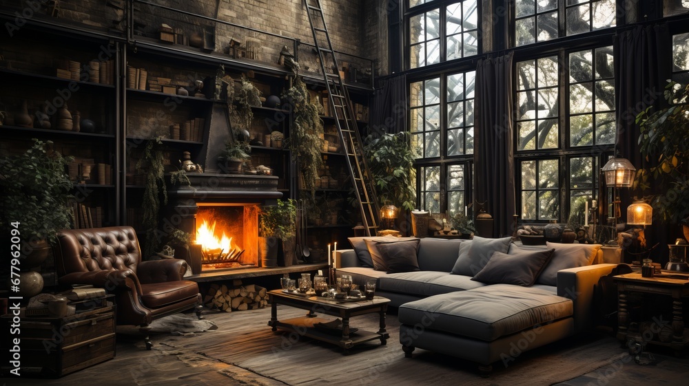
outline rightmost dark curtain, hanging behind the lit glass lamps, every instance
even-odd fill
[[[667,79],[672,76],[672,36],[668,25],[637,26],[621,32],[613,41],[615,50],[615,92],[617,102],[617,137],[615,150],[638,169],[654,166],[654,160],[645,160],[639,151],[639,126],[635,119],[639,112],[652,106],[652,111],[666,106],[663,92]],[[658,187],[663,189],[662,186]],[[644,197],[658,192],[639,189],[620,189],[621,215],[633,197]],[[629,227],[628,227],[629,228]],[[656,224],[646,227],[648,246],[659,244],[651,257],[664,263],[667,259],[666,244],[674,240],[674,227]],[[629,260],[625,258],[625,260]]]

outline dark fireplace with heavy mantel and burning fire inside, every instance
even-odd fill
[[[189,173],[192,186],[168,191],[170,218],[192,234],[194,275],[258,267],[258,212],[282,193],[273,175]]]

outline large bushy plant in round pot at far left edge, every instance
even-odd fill
[[[65,173],[72,157],[50,150],[51,144],[34,138],[19,156],[0,158],[0,229],[21,247],[12,256],[20,258],[21,294],[27,297],[43,290],[43,278],[30,268],[50,255],[57,231],[72,224],[73,185]]]

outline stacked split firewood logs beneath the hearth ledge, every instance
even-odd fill
[[[239,310],[256,310],[265,308],[268,304],[267,290],[255,284],[243,285],[239,279],[232,284],[212,284],[203,299],[208,308],[216,308],[225,312]]]

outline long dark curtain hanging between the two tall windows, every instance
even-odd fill
[[[476,67],[474,202],[485,202],[493,235],[511,236],[515,208],[512,53]]]

